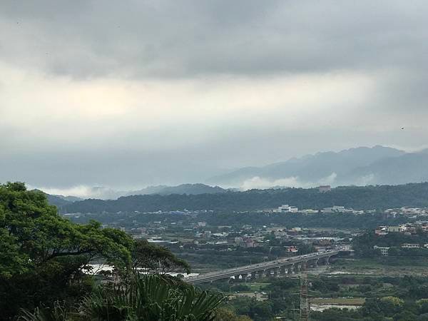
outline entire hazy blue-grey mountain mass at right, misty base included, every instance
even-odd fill
[[[273,163],[263,167],[248,167],[218,175],[208,183],[223,186],[261,188],[265,184],[287,187],[338,185],[382,185],[419,183],[428,180],[428,150],[406,153],[384,146],[350,148],[340,152],[323,152],[302,158]]]

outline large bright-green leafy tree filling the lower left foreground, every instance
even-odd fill
[[[44,193],[24,183],[0,185],[0,310],[68,300],[91,290],[91,261],[131,264],[133,240],[96,222],[77,225],[58,215]],[[1,319],[1,318],[0,318]]]

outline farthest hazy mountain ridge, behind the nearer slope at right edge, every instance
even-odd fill
[[[285,178],[295,178],[301,185],[330,183],[332,179],[337,183],[347,183],[348,173],[355,170],[355,168],[404,154],[404,151],[384,146],[351,148],[338,153],[331,151],[316,153],[315,155],[291,158],[288,161],[273,163],[264,167],[242,168],[210,178],[208,183],[240,186],[245,180],[255,177],[271,180],[272,182]]]

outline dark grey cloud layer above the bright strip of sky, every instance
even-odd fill
[[[426,1],[3,2],[1,56],[78,78],[420,68],[428,54]]]

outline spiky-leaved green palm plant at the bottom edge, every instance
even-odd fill
[[[194,287],[180,288],[161,275],[136,277],[124,289],[86,297],[81,315],[88,320],[210,321],[225,297]]]

